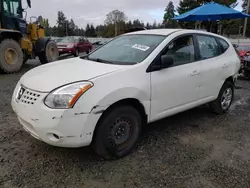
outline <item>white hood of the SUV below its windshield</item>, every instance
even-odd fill
[[[125,67],[127,66],[98,63],[78,57],[34,68],[22,76],[20,84],[32,90],[50,92],[65,84],[91,80]]]

